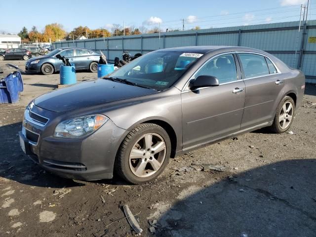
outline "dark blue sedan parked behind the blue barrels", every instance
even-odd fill
[[[76,69],[88,69],[93,73],[97,72],[98,61],[101,56],[101,54],[87,48],[58,48],[47,53],[45,56],[39,56],[30,59],[25,64],[25,70],[36,73],[41,72],[44,75],[51,75],[54,72],[59,72],[62,61],[56,58],[57,54],[60,54],[65,58],[69,58],[70,63],[74,63]]]

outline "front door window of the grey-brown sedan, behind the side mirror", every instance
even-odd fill
[[[194,76],[213,76],[220,84],[237,80],[237,70],[233,54],[225,54],[207,62]]]

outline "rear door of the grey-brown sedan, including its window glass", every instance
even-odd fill
[[[261,54],[238,53],[238,58],[246,85],[241,129],[272,121],[284,87],[283,81],[279,80],[279,71],[268,57]]]

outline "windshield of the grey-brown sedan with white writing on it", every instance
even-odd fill
[[[108,77],[163,90],[176,82],[202,54],[156,51],[145,54]]]

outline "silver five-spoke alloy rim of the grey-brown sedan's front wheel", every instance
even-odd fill
[[[129,154],[129,168],[140,178],[155,174],[166,157],[166,144],[157,133],[143,135]]]

